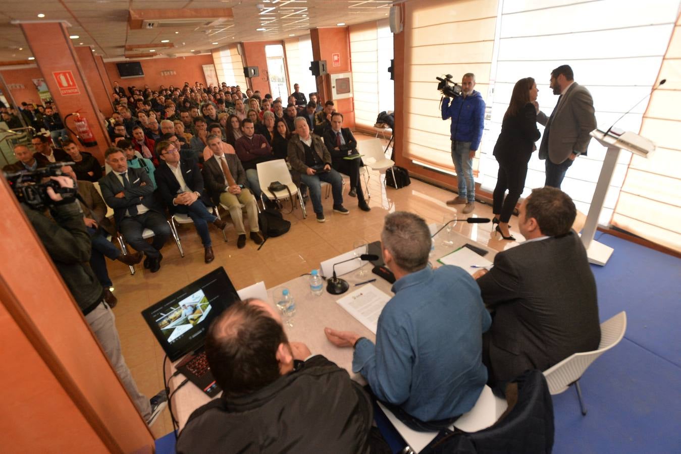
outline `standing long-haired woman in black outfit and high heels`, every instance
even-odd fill
[[[537,129],[537,84],[531,77],[518,80],[513,87],[509,108],[504,114],[494,146],[494,157],[499,163],[499,173],[494,188],[494,219],[496,231],[504,240],[516,240],[509,233],[509,219],[525,187],[527,163],[539,140]],[[509,193],[504,198],[506,190]]]

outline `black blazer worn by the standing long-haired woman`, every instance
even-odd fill
[[[539,137],[537,110],[532,103],[527,103],[516,115],[504,118],[493,154],[500,162],[527,163]]]

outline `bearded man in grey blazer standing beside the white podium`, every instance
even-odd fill
[[[572,68],[561,65],[551,72],[551,88],[558,97],[558,103],[551,116],[539,111],[537,122],[544,125],[539,159],[546,160],[545,186],[560,189],[565,172],[573,161],[586,156],[591,136],[596,129],[596,116],[591,94],[586,87],[574,80]],[[539,107],[535,101],[535,106]]]

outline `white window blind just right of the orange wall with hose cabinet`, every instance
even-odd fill
[[[387,20],[351,25],[349,30],[355,125],[373,128],[379,112],[395,108],[394,82],[387,71],[392,33]]]

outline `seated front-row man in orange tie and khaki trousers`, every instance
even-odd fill
[[[202,174],[206,184],[206,191],[210,194],[215,205],[222,204],[229,210],[234,229],[238,235],[236,246],[246,246],[246,228],[244,227],[241,205],[246,208],[251,228],[251,240],[255,244],[262,244],[264,239],[260,234],[257,222],[257,205],[251,190],[246,187],[246,172],[241,161],[236,155],[223,152],[218,135],[211,134],[206,138],[210,150],[213,152],[210,159],[204,162]]]

